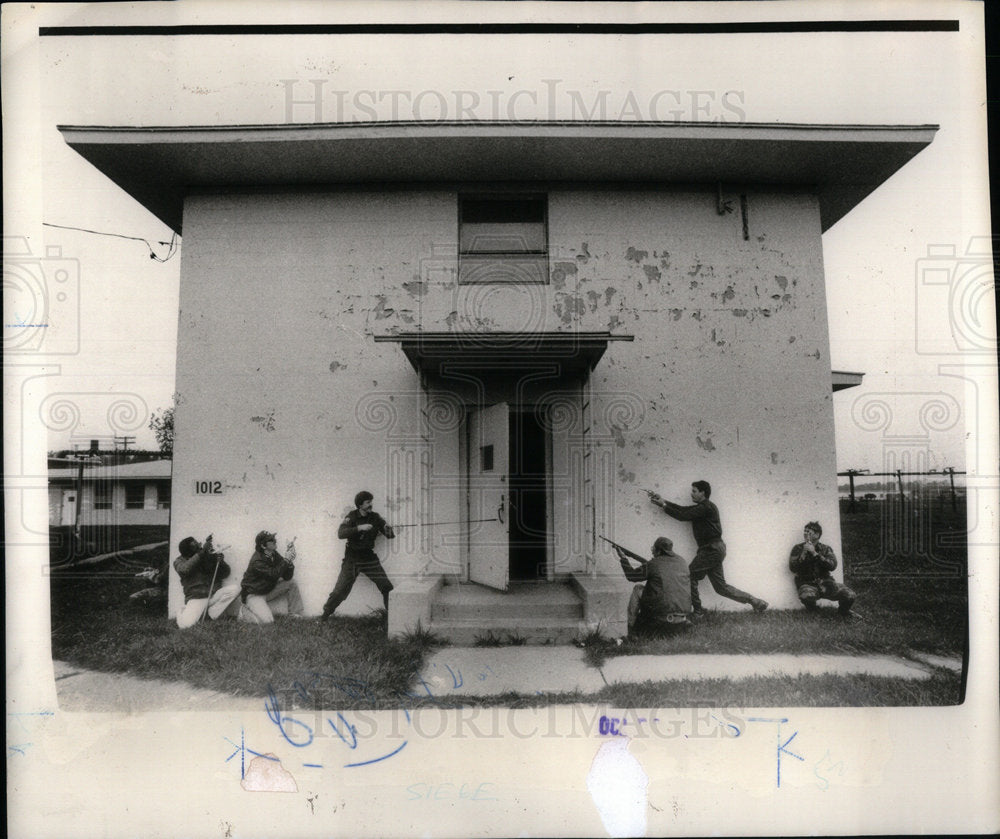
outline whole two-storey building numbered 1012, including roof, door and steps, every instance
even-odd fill
[[[772,606],[804,522],[839,554],[831,399],[860,376],[830,369],[821,234],[934,126],[61,130],[183,231],[172,546],[214,532],[239,573],[258,530],[296,536],[318,614],[368,489],[414,525],[377,546],[391,632],[621,632],[598,537],[690,558],[642,490],[699,479],[727,578]],[[362,578],[341,609],[380,602]]]

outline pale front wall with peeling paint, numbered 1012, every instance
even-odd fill
[[[597,532],[638,551],[670,535],[691,556],[690,527],[640,489],[686,502],[706,479],[728,578],[794,605],[786,558],[802,524],[819,519],[839,551],[818,207],[751,192],[744,239],[739,196],[724,198],[734,212],[717,213],[714,190],[553,191],[549,283],[458,286],[454,190],[189,197],[171,544],[214,533],[239,576],[258,530],[276,530],[279,549],[297,536],[297,577],[318,612],[359,489],[391,523],[426,519],[429,498],[435,520],[461,515],[440,475],[460,472],[449,402],[428,400],[398,346],[374,335],[610,330],[635,340],[609,344],[589,382]],[[565,420],[553,464],[577,486],[587,397],[570,390],[553,394]],[[580,517],[580,495],[555,504],[557,531]],[[377,550],[397,578],[428,557],[430,570],[455,568],[455,536],[413,528]],[[582,554],[557,546],[561,568],[620,573],[586,542]],[[378,605],[359,580],[342,608]]]

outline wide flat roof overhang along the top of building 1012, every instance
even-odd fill
[[[800,187],[819,196],[827,230],[937,129],[584,121],[59,126],[74,151],[178,233],[192,190],[504,181]]]

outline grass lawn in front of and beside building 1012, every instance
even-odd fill
[[[861,620],[843,620],[833,604],[819,613],[710,612],[696,628],[675,638],[630,639],[616,646],[608,639],[590,637],[584,654],[593,666],[616,655],[671,653],[961,656],[968,602],[964,534],[943,531],[949,538],[935,548],[936,554],[911,550],[907,556],[883,538],[883,525],[876,516],[844,517],[845,553],[863,560],[846,569],[847,582],[858,594]],[[148,612],[131,606],[128,595],[143,587],[134,579],[135,571],[156,564],[167,550],[164,546],[86,572],[55,571],[53,657],[93,670],[179,680],[237,696],[266,696],[273,690],[282,708],[395,708],[429,701],[408,691],[425,657],[440,643],[426,634],[387,639],[382,613],[337,617],[326,624],[279,619],[267,629],[221,621],[180,632],[165,610]],[[960,697],[961,677],[939,669],[923,681],[758,677],[612,685],[586,697],[456,696],[450,701],[522,707],[581,701],[617,707],[705,702],[731,707],[832,707],[946,705],[961,701]]]

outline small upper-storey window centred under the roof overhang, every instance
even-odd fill
[[[459,282],[546,282],[547,215],[544,197],[460,197]]]

